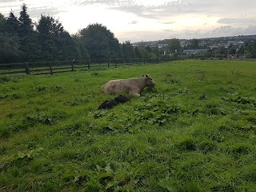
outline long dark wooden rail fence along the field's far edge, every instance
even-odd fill
[[[19,62],[0,64],[1,74],[55,74],[77,70],[93,70],[118,66],[145,65],[171,61],[171,59],[98,59],[91,62],[57,61],[57,62]]]

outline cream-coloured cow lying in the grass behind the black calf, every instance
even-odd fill
[[[110,80],[102,86],[104,94],[131,94],[140,97],[142,90],[146,86],[155,86],[156,83],[149,74],[142,75],[142,78],[128,78]]]

